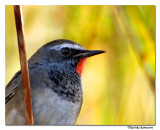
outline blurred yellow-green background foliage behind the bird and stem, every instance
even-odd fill
[[[87,60],[76,125],[155,125],[155,6],[23,6],[28,58],[70,39],[107,51]],[[20,69],[12,6],[5,8],[6,84]]]

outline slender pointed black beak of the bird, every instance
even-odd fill
[[[86,50],[86,51],[80,52],[79,54],[74,55],[73,57],[85,58],[85,57],[91,57],[94,55],[98,55],[104,52],[105,51],[102,51],[102,50]]]

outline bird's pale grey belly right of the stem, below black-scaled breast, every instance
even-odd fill
[[[36,90],[35,93],[37,93]],[[73,103],[64,100],[50,89],[38,91],[38,94],[33,98],[35,124],[73,125],[79,115],[80,108],[81,102]]]

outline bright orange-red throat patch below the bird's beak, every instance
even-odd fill
[[[82,72],[83,72],[83,69],[84,69],[84,65],[87,61],[87,58],[82,58],[78,61],[78,64],[77,64],[77,68],[76,68],[76,71],[77,73],[79,74],[79,76],[82,75]]]

